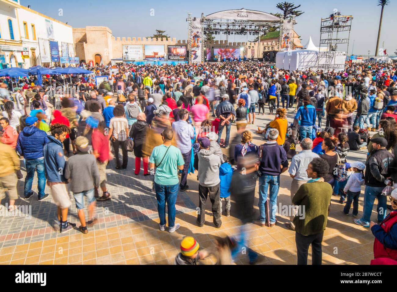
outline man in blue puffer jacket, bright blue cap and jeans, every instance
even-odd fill
[[[44,193],[46,177],[44,174],[43,147],[50,140],[47,137],[47,133],[38,128],[39,123],[36,117],[27,117],[25,123],[26,127],[19,133],[17,146],[15,147],[18,153],[26,160],[25,190],[23,195],[25,199],[30,199],[33,195],[33,177],[35,176],[35,170],[37,170],[38,195],[39,201],[42,201],[48,197],[48,194]]]

